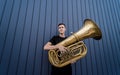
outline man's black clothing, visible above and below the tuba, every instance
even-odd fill
[[[65,40],[67,37],[63,38],[58,36],[53,36],[52,39],[49,40],[49,42],[52,43],[52,45],[56,45],[57,43]],[[52,66],[52,72],[51,75],[72,75],[72,67],[71,64],[66,65],[64,67],[58,68]]]

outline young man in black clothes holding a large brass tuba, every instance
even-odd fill
[[[58,25],[58,31],[59,31],[59,35],[53,36],[52,39],[50,39],[49,42],[44,46],[44,50],[59,49],[61,52],[66,51],[66,47],[61,45],[56,45],[57,43],[67,38],[65,36],[66,26],[64,23],[60,23]],[[72,75],[72,66],[71,64],[61,68],[52,66],[51,75]]]

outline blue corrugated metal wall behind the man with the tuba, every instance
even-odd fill
[[[120,0],[0,0],[0,75],[50,75],[44,44],[67,25],[76,32],[86,18],[102,40],[84,40],[88,53],[73,75],[120,75]]]

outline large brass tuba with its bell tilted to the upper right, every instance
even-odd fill
[[[57,44],[65,46],[67,51],[61,53],[58,49],[49,50],[49,61],[55,67],[63,67],[70,64],[71,61],[77,61],[87,53],[87,47],[82,40],[87,38],[100,40],[101,37],[102,33],[97,24],[91,19],[85,19],[83,27],[79,31]]]

